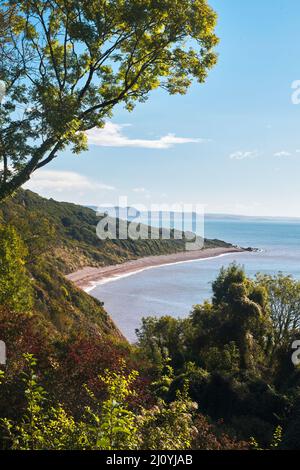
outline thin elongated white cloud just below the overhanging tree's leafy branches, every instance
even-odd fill
[[[206,139],[177,137],[175,134],[167,134],[159,139],[131,139],[124,135],[123,128],[126,125],[107,122],[103,129],[94,128],[87,132],[89,143],[99,147],[137,147],[148,149],[168,149],[174,145],[203,143]]]

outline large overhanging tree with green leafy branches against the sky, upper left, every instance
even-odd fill
[[[7,0],[0,48],[0,200],[113,108],[129,111],[162,87],[184,94],[216,63],[216,14],[206,0]],[[13,48],[12,48],[13,47]]]

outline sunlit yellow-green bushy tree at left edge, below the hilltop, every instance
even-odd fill
[[[0,305],[16,312],[26,311],[32,305],[26,247],[10,225],[0,226],[0,240]]]

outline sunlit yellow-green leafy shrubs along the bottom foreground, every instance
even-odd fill
[[[62,405],[52,405],[36,375],[36,360],[25,355],[27,371],[23,374],[26,406],[22,418],[14,422],[1,419],[7,447],[14,450],[122,450],[122,449],[190,449],[197,433],[193,414],[197,409],[185,390],[167,405],[133,412],[126,403],[134,394],[132,385],[137,377],[133,371],[125,374],[125,365],[118,373],[106,371],[99,377],[106,386],[107,397],[93,400],[84,415],[76,421]]]

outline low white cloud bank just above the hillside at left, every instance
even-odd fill
[[[86,190],[107,190],[115,188],[106,184],[94,181],[86,176],[72,171],[39,170],[33,173],[30,181],[24,185],[25,189],[32,191],[51,190],[62,191],[86,191]]]

